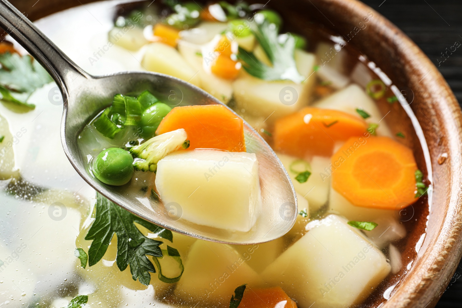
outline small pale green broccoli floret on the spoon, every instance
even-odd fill
[[[140,171],[156,171],[159,160],[171,152],[189,146],[189,140],[186,140],[187,137],[186,131],[180,128],[172,132],[152,137],[146,142],[132,147],[129,151],[135,158],[133,163],[134,169]]]

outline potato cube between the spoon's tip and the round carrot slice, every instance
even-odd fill
[[[321,174],[325,174],[325,168],[329,168],[330,158],[315,156],[311,159],[311,163],[308,163],[303,159],[282,153],[277,153],[277,155],[291,177],[295,191],[308,200],[310,211],[317,211],[322,205],[326,204],[330,179],[321,176]],[[308,181],[300,183],[295,178],[299,172],[304,171],[304,166],[310,166],[308,171],[311,172],[311,175]]]

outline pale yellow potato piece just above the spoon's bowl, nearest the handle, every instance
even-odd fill
[[[160,72],[188,81],[198,87],[201,80],[181,54],[173,47],[164,43],[151,43],[146,48],[142,65],[148,71]]]

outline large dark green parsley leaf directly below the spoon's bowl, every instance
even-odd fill
[[[103,258],[109,242],[114,234],[117,234],[117,267],[124,271],[129,264],[133,279],[148,285],[151,281],[149,272],[155,273],[156,269],[146,255],[162,257],[159,248],[162,242],[144,236],[134,223],[139,223],[169,241],[173,240],[171,231],[135,216],[99,193],[95,207],[95,221],[85,236],[85,240],[93,240],[88,249],[88,265],[93,266]]]

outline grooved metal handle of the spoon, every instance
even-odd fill
[[[0,26],[42,64],[62,91],[67,92],[67,85],[79,77],[90,78],[88,73],[69,59],[42,31],[6,0],[0,0]]]

